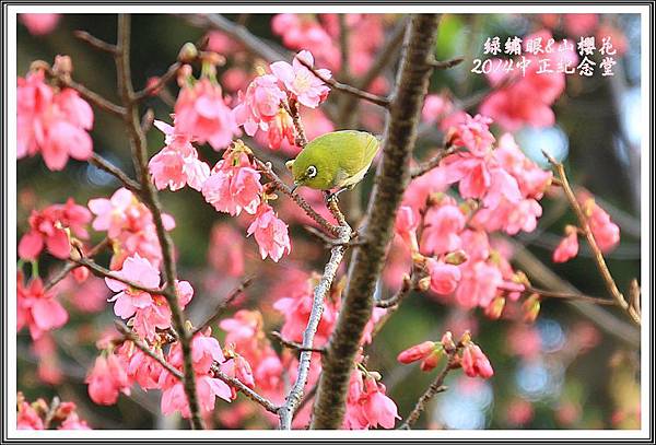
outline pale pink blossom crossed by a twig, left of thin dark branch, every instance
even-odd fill
[[[115,272],[115,276],[149,289],[160,285],[160,271],[148,259],[141,258],[139,254],[127,258],[122,268]],[[153,297],[148,292],[130,288],[112,278],[105,278],[105,283],[112,291],[118,292],[107,301],[116,302],[114,313],[124,319],[134,315],[137,309],[143,309],[153,304]]]

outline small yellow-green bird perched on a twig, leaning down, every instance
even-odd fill
[[[352,189],[364,178],[379,148],[378,138],[365,131],[341,130],[319,136],[285,164],[294,176],[292,192],[301,186],[337,189],[329,195],[333,197]]]

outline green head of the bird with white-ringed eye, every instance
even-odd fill
[[[286,163],[294,177],[294,189],[306,186],[327,190],[332,186],[337,164],[331,163],[329,153],[316,150],[303,150],[295,160]]]

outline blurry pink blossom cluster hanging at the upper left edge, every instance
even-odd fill
[[[60,171],[69,156],[91,157],[93,142],[87,131],[93,127],[93,112],[77,91],[55,89],[46,83],[43,70],[35,70],[19,78],[16,95],[19,159],[40,152],[49,169]]]

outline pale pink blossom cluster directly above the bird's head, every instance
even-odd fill
[[[250,82],[246,93],[239,91],[239,104],[234,109],[237,124],[244,127],[248,136],[256,136],[258,131],[266,134],[270,149],[279,149],[283,141],[295,143],[290,103],[316,108],[330,91],[301,60],[314,66],[313,55],[303,50],[294,57],[292,65],[273,62],[269,67],[272,74],[262,73]],[[326,69],[316,71],[324,79],[331,75]]]

